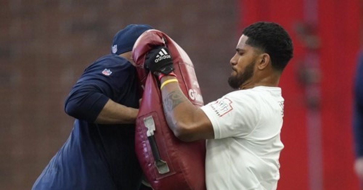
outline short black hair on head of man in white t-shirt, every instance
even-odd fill
[[[242,34],[248,37],[246,45],[261,49],[270,55],[272,67],[280,72],[293,57],[290,35],[274,22],[256,22],[246,27]]]

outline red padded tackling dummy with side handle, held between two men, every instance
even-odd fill
[[[155,46],[168,47],[181,90],[193,105],[204,104],[185,51],[163,32],[145,31],[132,50],[144,88],[136,119],[136,154],[154,190],[205,190],[205,140],[185,143],[175,137],[164,117],[159,81],[144,68],[145,56]]]

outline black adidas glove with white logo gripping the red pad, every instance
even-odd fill
[[[173,61],[167,47],[156,47],[148,52],[145,57],[145,66],[154,75],[168,75],[174,71]]]

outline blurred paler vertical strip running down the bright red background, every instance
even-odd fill
[[[316,35],[318,26],[318,0],[305,0],[304,22],[310,28],[310,34],[306,37],[313,38],[313,44],[306,44],[304,59],[307,68],[305,80],[305,96],[307,100],[307,144],[308,144],[308,167],[309,167],[309,189],[322,190],[322,139],[321,139],[321,90],[320,90],[320,64],[319,64],[319,38]],[[310,45],[310,46],[309,46]]]

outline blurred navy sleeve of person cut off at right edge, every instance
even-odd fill
[[[358,59],[354,89],[353,134],[357,157],[363,157],[363,50]]]

